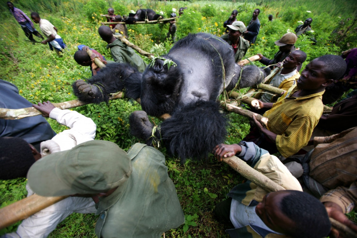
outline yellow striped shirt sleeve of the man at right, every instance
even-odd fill
[[[284,115],[282,115],[284,117]],[[276,148],[285,157],[297,153],[308,144],[318,120],[300,117],[292,121],[284,134],[276,136]]]

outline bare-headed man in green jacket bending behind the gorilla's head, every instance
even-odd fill
[[[131,66],[138,68],[140,72],[144,72],[147,65],[143,59],[125,43],[115,38],[110,27],[101,26],[98,29],[98,33],[108,43],[107,48],[110,49],[115,62],[129,63]]]

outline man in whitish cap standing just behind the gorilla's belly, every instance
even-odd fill
[[[245,30],[245,26],[242,21],[234,21],[232,25],[227,25],[227,28],[229,28],[228,34],[222,35],[221,38],[232,46],[234,60],[237,63],[241,61],[249,48],[249,41],[243,39],[241,36]]]

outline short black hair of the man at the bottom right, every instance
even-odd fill
[[[324,204],[312,195],[297,191],[285,190],[289,194],[280,202],[281,211],[295,222],[289,236],[292,238],[322,238],[331,230]]]

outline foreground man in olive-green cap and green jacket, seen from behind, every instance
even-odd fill
[[[38,160],[28,183],[41,196],[90,195],[101,238],[159,238],[184,222],[165,157],[145,144],[126,153],[110,141],[87,141]]]

